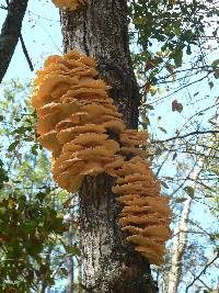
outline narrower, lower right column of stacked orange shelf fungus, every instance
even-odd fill
[[[161,195],[150,164],[138,156],[125,161],[117,176],[113,192],[123,206],[119,223],[126,240],[150,263],[162,264],[165,241],[171,236],[169,199]]]

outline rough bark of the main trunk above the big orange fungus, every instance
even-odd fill
[[[139,92],[130,64],[126,0],[90,0],[79,12],[62,11],[65,53],[93,56],[127,126],[137,128]]]

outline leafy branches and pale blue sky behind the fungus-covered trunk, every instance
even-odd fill
[[[3,22],[5,11],[0,13]],[[214,292],[219,286],[218,262],[208,263],[218,255],[219,235],[218,4],[130,1],[129,19],[141,91],[139,127],[150,133],[148,158],[172,199],[174,215],[166,263],[153,274],[161,292],[170,292],[176,239],[183,246],[177,292]],[[23,35],[35,69],[46,56],[61,54],[58,10],[50,1],[30,1]],[[54,184],[48,155],[37,143],[28,104],[33,77],[19,44],[0,89],[2,292],[60,292],[69,268],[74,268],[77,285],[81,282],[77,201]],[[178,234],[187,237],[177,239]]]

